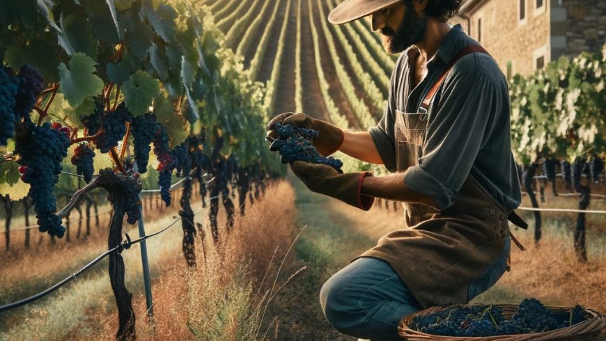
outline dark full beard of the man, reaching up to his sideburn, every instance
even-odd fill
[[[405,1],[406,13],[402,24],[394,32],[389,27],[381,30],[381,43],[388,54],[399,54],[420,42],[427,26],[426,19],[417,15],[410,1]]]

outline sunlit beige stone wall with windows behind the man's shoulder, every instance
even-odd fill
[[[521,21],[520,0],[480,1],[479,6],[462,14],[471,19],[472,38],[480,40],[504,74],[531,74],[537,63],[546,64],[551,60],[551,1],[557,0],[543,0],[543,6],[537,9],[537,0],[526,0],[526,15]]]

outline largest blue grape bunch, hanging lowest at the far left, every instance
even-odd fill
[[[53,129],[50,123],[41,126],[26,122],[27,136],[17,139],[15,152],[21,155],[21,179],[31,185],[40,232],[63,237],[65,228],[56,216],[54,187],[59,182],[61,161],[68,155],[70,139],[63,129]]]

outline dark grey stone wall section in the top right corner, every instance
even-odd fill
[[[552,58],[596,52],[606,42],[605,0],[551,1]]]

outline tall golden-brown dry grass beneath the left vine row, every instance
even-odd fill
[[[200,239],[196,238],[199,267],[194,271],[187,271],[180,253],[181,233],[173,231],[164,237],[162,244],[170,244],[171,247],[162,250],[160,257],[152,257],[155,258],[152,260],[155,270],[155,274],[152,273],[155,303],[153,327],[145,322],[145,298],[139,269],[133,271],[134,278],[128,279],[127,276],[127,287],[134,293],[138,338],[251,340],[255,335],[263,335],[265,328],[258,329],[258,326],[261,325],[261,313],[267,302],[267,296],[264,299],[264,295],[272,286],[277,265],[295,237],[293,202],[293,189],[288,183],[281,182],[277,187],[269,189],[263,200],[247,207],[247,215],[238,221],[231,235],[222,239],[218,249],[212,246],[210,235],[206,235],[205,250],[208,258],[205,264]],[[219,225],[224,226],[224,222],[225,217],[220,216]],[[226,235],[226,232],[222,232]],[[150,253],[156,252],[154,247],[155,244],[148,245]],[[278,251],[270,265],[276,248]],[[132,267],[135,265],[127,264],[127,271]],[[266,272],[267,278],[262,284]],[[276,288],[287,280],[288,275],[290,273],[286,272],[280,276]],[[296,278],[293,279],[295,280]],[[109,281],[105,285],[109,287]],[[91,301],[95,304],[88,304],[90,308],[84,316],[70,325],[61,338],[114,338],[118,323],[113,297],[111,292],[102,296],[109,303]],[[265,317],[265,324],[267,320],[268,317]],[[59,326],[47,324],[45,330],[47,335],[57,335],[49,329],[59,330]]]

